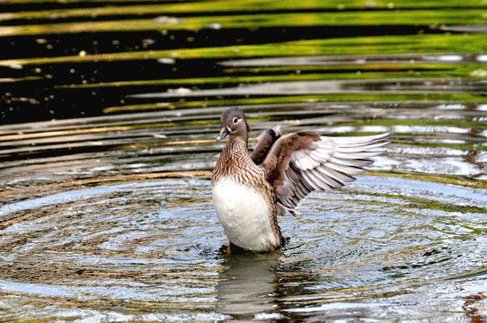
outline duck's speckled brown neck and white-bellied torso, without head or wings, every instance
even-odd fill
[[[226,144],[212,174],[213,203],[226,237],[253,251],[279,248],[277,196],[266,170],[256,165],[241,138]]]

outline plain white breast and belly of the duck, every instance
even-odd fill
[[[271,200],[230,179],[213,186],[213,203],[226,237],[240,248],[270,251],[280,245],[272,231]]]

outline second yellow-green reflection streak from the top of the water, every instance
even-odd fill
[[[109,10],[105,9],[105,10]],[[76,12],[74,12],[76,13]],[[93,9],[86,11],[92,13]],[[96,11],[95,11],[96,13]],[[133,13],[126,13],[133,14]],[[0,36],[39,35],[52,33],[75,33],[86,30],[100,31],[160,31],[191,30],[198,31],[207,26],[218,28],[263,28],[263,27],[305,27],[305,26],[435,26],[452,24],[480,24],[485,22],[483,10],[408,10],[408,11],[359,11],[339,13],[267,13],[222,16],[185,17],[181,19],[133,19],[102,22],[65,22],[41,25],[23,25],[0,27]],[[50,18],[51,16],[68,18],[69,13],[23,12],[8,13],[0,20]],[[74,14],[76,16],[76,14]],[[91,15],[89,15],[91,16]]]

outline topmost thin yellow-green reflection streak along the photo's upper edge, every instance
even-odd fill
[[[137,1],[137,0],[136,0]],[[136,2],[134,0],[130,3]],[[124,14],[177,14],[177,13],[227,13],[227,12],[261,12],[261,11],[296,11],[296,10],[360,10],[380,9],[392,12],[394,9],[443,9],[443,8],[482,8],[482,1],[477,0],[396,0],[391,1],[363,1],[363,0],[302,0],[302,1],[275,1],[275,0],[243,0],[243,1],[198,1],[180,4],[150,4],[158,0],[139,0],[147,4],[124,5],[120,7],[99,7],[42,10],[38,12],[4,13],[0,19],[39,19],[39,18],[66,18],[66,17],[96,17],[101,15]],[[3,4],[43,4],[51,0],[3,0]],[[126,4],[127,0],[113,0],[111,3]],[[63,4],[89,4],[101,3],[104,0],[63,0]]]

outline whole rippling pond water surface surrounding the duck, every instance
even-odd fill
[[[0,321],[487,321],[482,1],[2,1]],[[392,131],[227,256],[219,115]]]

